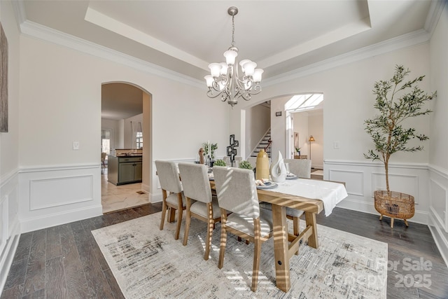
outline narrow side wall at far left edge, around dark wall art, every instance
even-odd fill
[[[20,234],[19,52],[20,39],[10,1],[0,1],[0,22],[8,40],[8,132],[0,133],[0,290],[13,262]]]

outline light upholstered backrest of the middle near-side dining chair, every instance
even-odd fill
[[[211,202],[208,168],[203,164],[179,163],[183,195],[200,202]]]

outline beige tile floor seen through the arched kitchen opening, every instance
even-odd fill
[[[139,191],[141,191],[141,183],[130,183],[120,186],[109,183],[107,181],[106,168],[101,180],[103,214],[148,204],[149,195],[147,193],[139,194]]]

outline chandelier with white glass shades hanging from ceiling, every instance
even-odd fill
[[[225,62],[209,64],[211,75],[204,77],[209,88],[207,96],[215,98],[221,95],[221,101],[228,101],[232,109],[235,104],[238,104],[239,97],[248,101],[251,95],[260,93],[263,73],[262,69],[255,69],[257,64],[251,60],[241,60],[238,64],[238,48],[235,46],[235,15],[237,13],[238,8],[234,6],[228,9],[228,14],[232,15],[232,46],[224,52]],[[239,67],[241,67],[241,76],[239,76]]]

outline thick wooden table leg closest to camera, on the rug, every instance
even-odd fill
[[[288,226],[286,207],[272,204],[272,222],[274,224],[274,260],[276,286],[287,292],[291,286],[288,258]]]

